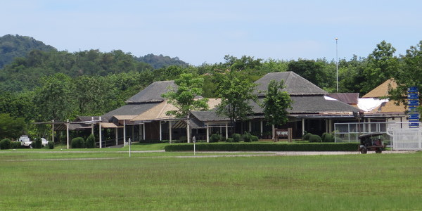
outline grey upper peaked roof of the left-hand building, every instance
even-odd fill
[[[126,103],[162,102],[165,101],[165,98],[162,98],[161,95],[176,87],[177,85],[174,84],[174,81],[153,82],[142,91],[139,91],[138,94],[129,98]]]

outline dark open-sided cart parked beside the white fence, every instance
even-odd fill
[[[382,153],[385,146],[383,143],[382,133],[370,133],[359,136],[360,145],[358,151],[366,154],[368,151],[375,151],[375,153]]]

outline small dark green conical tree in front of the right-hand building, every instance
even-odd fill
[[[282,91],[283,88],[285,88],[283,80],[276,82],[272,79],[268,84],[262,107],[269,125],[282,125],[288,122],[287,109],[292,109],[292,100],[287,91]]]

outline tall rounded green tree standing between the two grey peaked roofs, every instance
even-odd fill
[[[217,113],[229,117],[232,127],[238,120],[245,120],[252,113],[251,101],[257,101],[254,94],[256,84],[230,71],[221,75],[222,80],[217,86],[217,93],[221,103],[217,106]]]

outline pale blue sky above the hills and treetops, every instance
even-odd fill
[[[416,0],[2,0],[0,8],[0,37],[34,37],[59,51],[162,54],[191,65],[225,55],[350,60],[383,40],[399,56],[422,40]]]

